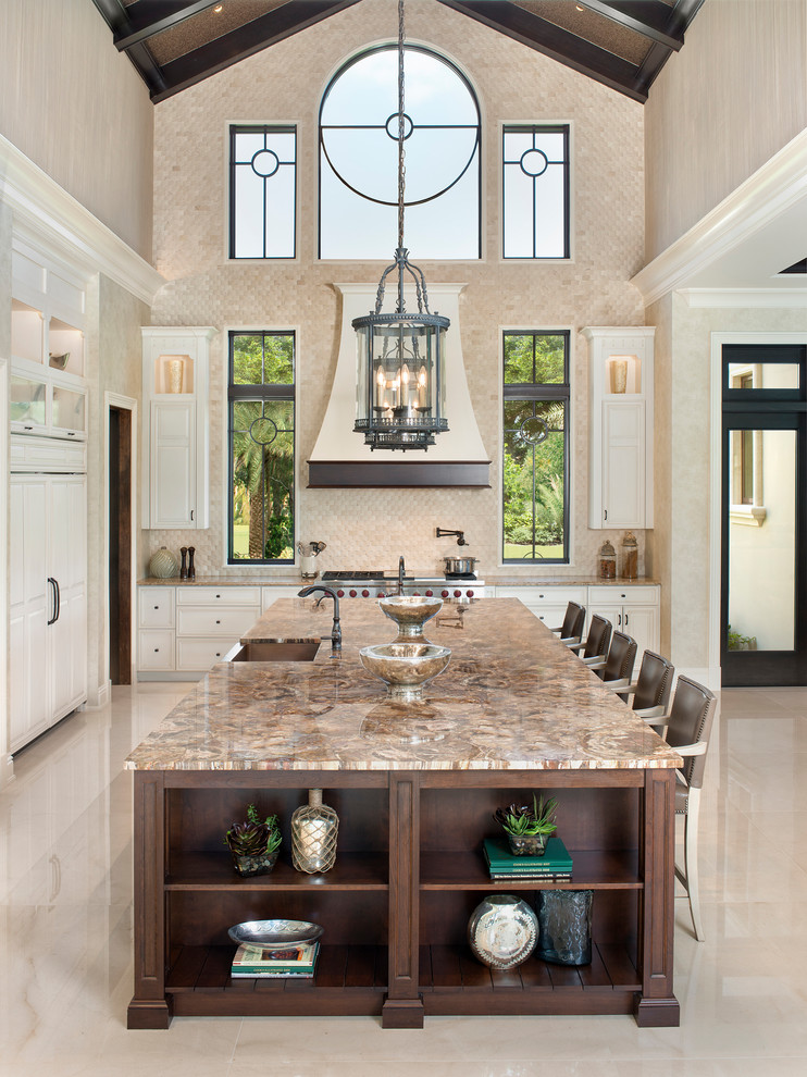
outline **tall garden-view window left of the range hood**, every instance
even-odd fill
[[[231,333],[231,565],[294,561],[294,333]]]

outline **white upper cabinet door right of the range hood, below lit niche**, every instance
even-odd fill
[[[603,523],[644,528],[645,406],[642,400],[603,405]]]

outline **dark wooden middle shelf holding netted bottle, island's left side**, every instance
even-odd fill
[[[338,853],[336,864],[324,875],[305,875],[278,859],[269,875],[244,879],[231,856],[222,853],[172,853],[165,889],[171,891],[244,890],[381,890],[389,889],[385,853]]]

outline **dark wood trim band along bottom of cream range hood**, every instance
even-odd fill
[[[309,460],[308,488],[349,486],[488,487],[489,460],[473,463],[444,460]]]

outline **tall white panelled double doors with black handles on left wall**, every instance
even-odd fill
[[[10,481],[12,752],[87,700],[87,482]]]

